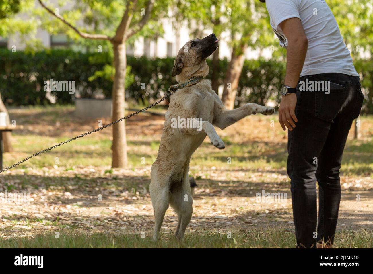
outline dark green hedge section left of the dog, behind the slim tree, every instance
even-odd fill
[[[173,58],[150,60],[127,56],[126,97],[140,103],[163,96],[171,80]],[[102,94],[110,98],[113,87],[113,56],[110,53],[78,53],[72,50],[12,52],[0,50],[0,91],[11,105],[50,104],[44,81],[75,81],[75,92],[83,98]],[[144,84],[145,83],[145,86]],[[141,89],[145,87],[145,89]],[[72,103],[75,95],[53,91],[59,104]]]

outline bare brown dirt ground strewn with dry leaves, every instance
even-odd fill
[[[13,113],[17,115],[17,110]],[[69,111],[65,113],[69,115]],[[19,116],[20,124],[26,123]],[[22,119],[24,119],[22,121]],[[32,119],[32,114],[27,118]],[[162,116],[139,115],[126,124],[128,140],[138,135],[160,139]],[[266,134],[267,118],[251,118],[251,125],[244,119],[220,136],[229,136],[237,144],[261,141],[285,145],[287,137]],[[103,124],[110,120],[104,120]],[[23,123],[23,124],[24,124]],[[38,125],[25,127],[21,135],[75,136],[91,130],[96,121],[66,120],[64,122],[38,121]],[[370,127],[362,128],[364,136],[372,136]],[[104,138],[111,130],[100,133]],[[208,142],[208,140],[205,140]],[[144,148],[141,148],[144,149]],[[211,148],[213,149],[213,148]],[[286,151],[284,152],[286,153]],[[17,154],[15,154],[17,155]],[[16,159],[15,159],[16,160]],[[12,192],[27,189],[29,204],[0,203],[0,234],[3,236],[38,234],[47,231],[74,229],[92,232],[150,232],[153,227],[148,185],[151,165],[133,169],[113,169],[110,166],[76,166],[39,169],[12,169],[1,175],[0,192],[12,185]],[[291,193],[285,167],[281,169],[252,169],[192,166],[196,170],[198,188],[195,190],[193,216],[188,230],[223,230],[232,228],[260,231],[266,227],[294,230]],[[208,176],[206,175],[208,174]],[[123,183],[125,182],[125,183]],[[342,176],[342,201],[337,229],[373,230],[373,179],[372,176]],[[260,202],[256,193],[282,192],[286,197],[280,202]],[[102,200],[100,200],[102,197]],[[176,215],[167,210],[163,231],[175,230]]]

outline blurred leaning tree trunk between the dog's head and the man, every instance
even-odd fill
[[[242,45],[237,51],[232,50],[231,62],[229,62],[227,75],[224,79],[224,89],[222,94],[222,102],[228,109],[233,109],[236,99],[239,76],[242,72],[242,67],[245,61],[245,47]]]

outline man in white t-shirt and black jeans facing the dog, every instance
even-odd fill
[[[332,248],[342,153],[364,99],[359,75],[325,0],[260,1],[266,2],[270,24],[286,48],[279,122],[283,130],[288,127],[297,248]]]

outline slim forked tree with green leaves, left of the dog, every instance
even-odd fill
[[[122,1],[107,1],[107,0],[86,0],[78,6],[78,9],[69,10],[66,16],[59,14],[59,10],[50,9],[43,1],[38,0],[41,6],[54,18],[62,22],[65,27],[59,25],[60,30],[73,36],[79,35],[85,40],[104,40],[108,41],[113,48],[114,53],[114,83],[113,83],[113,120],[118,120],[125,116],[125,78],[126,78],[126,41],[129,38],[139,33],[150,20],[156,19],[162,13],[162,10],[167,10],[165,1],[155,0],[127,0],[125,7],[122,6]],[[78,3],[77,3],[78,4]],[[79,4],[78,4],[79,5]],[[154,9],[154,6],[158,7]],[[78,11],[77,11],[78,10]],[[108,13],[111,12],[111,13]],[[73,17],[76,20],[82,18],[82,13],[85,14],[83,18],[86,22],[91,23],[93,32],[100,28],[100,25],[107,27],[107,32],[113,32],[110,26],[114,25],[119,13],[122,13],[120,22],[117,24],[115,33],[110,36],[106,34],[91,34],[78,29],[72,25],[66,18]],[[51,28],[52,24],[46,26]],[[113,125],[113,145],[112,145],[112,167],[126,167],[127,166],[127,151],[126,151],[126,129],[125,121]]]

